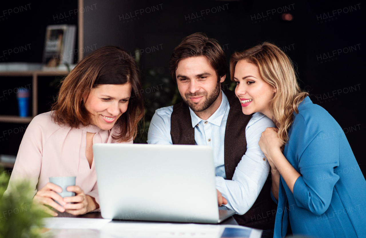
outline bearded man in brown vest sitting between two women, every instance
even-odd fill
[[[219,209],[236,211],[240,225],[273,237],[277,205],[270,197],[270,166],[258,146],[261,133],[275,127],[272,120],[243,114],[235,93],[221,89],[228,71],[225,53],[205,34],[184,38],[169,68],[183,102],[156,110],[147,143],[211,146]],[[199,197],[192,194],[187,203],[195,200]]]

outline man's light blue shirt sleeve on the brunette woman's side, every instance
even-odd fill
[[[172,111],[172,106],[156,110],[147,132],[147,144],[173,144],[170,135]]]

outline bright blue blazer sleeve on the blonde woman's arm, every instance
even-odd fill
[[[302,120],[298,124],[299,131],[302,131],[299,126],[304,128],[303,133],[298,133],[298,144],[310,143],[303,152],[295,153],[302,176],[295,182],[294,197],[299,207],[318,216],[328,209],[339,180],[334,173],[334,168],[339,166],[339,137],[332,133],[332,123],[326,120],[318,119],[318,123],[308,125]]]

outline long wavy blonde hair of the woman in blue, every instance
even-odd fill
[[[294,65],[290,58],[280,48],[264,42],[242,52],[235,52],[230,58],[230,77],[234,81],[235,65],[245,60],[259,69],[262,79],[276,88],[273,99],[269,103],[270,118],[275,122],[278,136],[285,144],[288,141],[288,130],[293,122],[292,113],[299,113],[299,103],[309,93],[300,90],[296,79]]]

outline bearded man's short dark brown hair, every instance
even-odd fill
[[[215,69],[217,80],[224,76],[228,71],[226,56],[219,43],[212,38],[208,38],[205,33],[194,33],[185,37],[182,42],[174,49],[169,60],[169,70],[174,82],[177,78],[175,71],[180,60],[188,57],[205,56]]]

